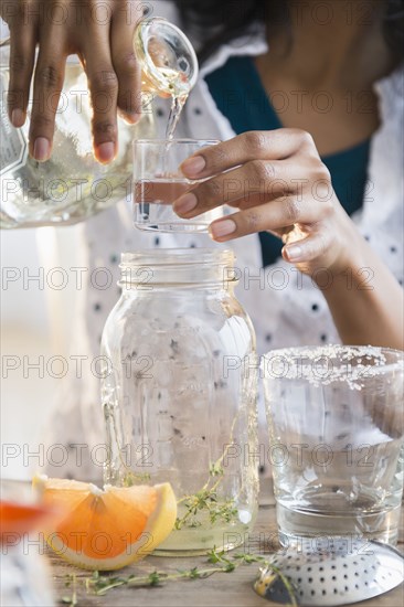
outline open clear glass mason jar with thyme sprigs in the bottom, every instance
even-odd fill
[[[244,541],[257,513],[255,333],[231,251],[124,254],[105,324],[105,482],[171,482],[178,519],[160,554]]]

